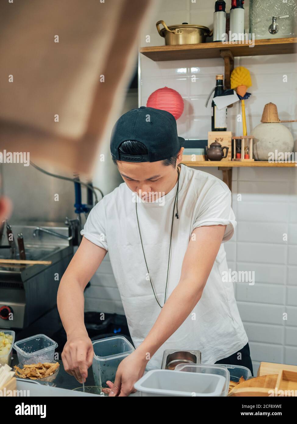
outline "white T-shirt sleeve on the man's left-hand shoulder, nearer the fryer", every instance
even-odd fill
[[[86,223],[80,234],[95,245],[108,251],[106,237],[106,217],[103,199],[97,203],[89,213]]]

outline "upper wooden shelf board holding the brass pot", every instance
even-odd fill
[[[259,56],[297,52],[297,37],[255,40],[255,46],[248,44],[223,44],[219,42],[185,44],[175,46],[141,47],[140,53],[155,62],[186,59],[213,59],[221,56],[222,50],[230,50],[236,56]]]

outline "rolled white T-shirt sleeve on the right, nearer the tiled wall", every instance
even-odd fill
[[[233,236],[236,229],[236,220],[231,208],[230,191],[220,192],[199,208],[192,226],[192,232],[195,228],[211,225],[226,225],[222,243],[230,240]]]

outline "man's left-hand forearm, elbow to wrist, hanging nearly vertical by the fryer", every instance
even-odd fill
[[[86,332],[84,325],[84,297],[78,282],[63,277],[61,279],[57,306],[67,337],[71,334]]]

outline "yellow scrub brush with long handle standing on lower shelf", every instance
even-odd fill
[[[247,135],[247,122],[245,119],[244,100],[248,99],[251,93],[247,93],[248,87],[252,86],[250,71],[243,66],[235,68],[231,73],[231,89],[236,89],[236,93],[241,100],[242,128],[243,135]]]

